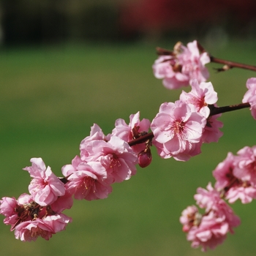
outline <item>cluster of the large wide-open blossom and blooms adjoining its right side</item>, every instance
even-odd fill
[[[181,93],[176,102],[165,102],[151,123],[153,144],[162,158],[187,161],[200,154],[202,143],[217,142],[222,136],[222,123],[209,116],[208,105],[217,102],[211,82],[191,82],[192,91]]]

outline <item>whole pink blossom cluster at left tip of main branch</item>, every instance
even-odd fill
[[[31,167],[24,168],[33,178],[29,185],[31,195],[20,195],[17,200],[15,197],[3,197],[0,214],[5,216],[4,224],[11,225],[11,231],[15,230],[15,238],[35,241],[42,236],[49,240],[72,221],[61,213],[72,207],[72,197],[41,158],[32,158],[31,163]]]

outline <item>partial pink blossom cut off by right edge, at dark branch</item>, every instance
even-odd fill
[[[246,94],[244,94],[242,102],[249,102],[249,105],[251,105],[250,110],[252,116],[256,119],[256,78],[249,78],[246,81],[246,87],[248,91],[246,91]]]

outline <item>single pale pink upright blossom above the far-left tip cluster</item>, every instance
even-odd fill
[[[35,202],[40,206],[47,206],[53,203],[59,196],[65,194],[64,184],[50,170],[45,167],[42,158],[31,158],[31,167],[25,167],[33,178],[29,184],[29,192]]]

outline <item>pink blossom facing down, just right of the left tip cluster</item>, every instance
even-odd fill
[[[75,158],[74,165],[62,167],[62,173],[67,176],[65,188],[75,199],[95,200],[108,197],[112,187],[105,182],[107,172],[100,162],[80,162]]]

